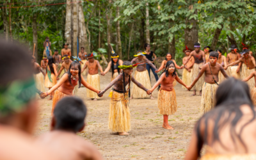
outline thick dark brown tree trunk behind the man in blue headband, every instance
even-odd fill
[[[195,12],[196,14],[197,12]],[[188,25],[192,24],[192,28],[189,29]],[[185,38],[185,45],[187,45],[190,49],[194,49],[194,43],[198,42],[198,24],[197,20],[187,19],[186,28],[184,29],[184,38]]]

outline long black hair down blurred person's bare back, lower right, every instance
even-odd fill
[[[240,131],[237,132],[237,122],[239,122],[239,120],[243,116],[240,106],[244,104],[250,106],[250,109],[253,113],[253,118],[251,120],[248,120],[248,122],[241,127]],[[229,133],[232,141],[234,142],[234,145],[237,144],[237,142],[235,141],[235,138],[237,138],[247,152],[248,148],[246,147],[244,141],[241,138],[241,133],[243,132],[244,127],[246,127],[246,125],[250,124],[253,120],[255,120],[255,118],[256,111],[250,97],[250,90],[248,84],[239,81],[234,77],[231,77],[227,81],[224,81],[220,84],[216,92],[215,108],[212,111],[205,113],[205,115],[202,116],[202,118],[200,118],[200,120],[198,120],[196,124],[196,136],[198,138],[198,156],[200,156],[200,148],[202,148],[204,143],[205,145],[209,145],[207,144],[207,134],[210,121],[214,122],[212,139],[210,140],[212,141],[212,143],[219,142],[223,148],[227,149],[227,147],[225,147],[220,141],[220,132],[223,127],[230,124]],[[204,136],[200,132],[202,131],[200,124],[205,125]]]

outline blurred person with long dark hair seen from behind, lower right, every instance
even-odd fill
[[[185,159],[256,159],[256,111],[248,84],[234,77],[216,92],[216,106],[195,125]]]

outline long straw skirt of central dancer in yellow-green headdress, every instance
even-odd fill
[[[109,108],[108,128],[113,132],[128,132],[131,130],[128,92],[113,92]]]

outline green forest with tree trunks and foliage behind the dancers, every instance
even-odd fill
[[[178,65],[187,45],[211,46],[227,55],[241,42],[256,51],[256,2],[252,0],[4,0],[0,3],[0,35],[34,44],[42,60],[45,36],[54,52],[67,42],[110,60],[108,44],[122,60],[131,60],[148,43],[157,56],[171,52]],[[19,52],[19,51],[17,51]]]

